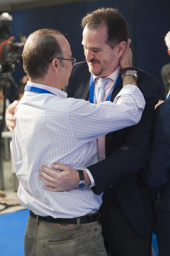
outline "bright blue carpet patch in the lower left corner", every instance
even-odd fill
[[[24,256],[24,233],[29,210],[0,215],[0,256]]]

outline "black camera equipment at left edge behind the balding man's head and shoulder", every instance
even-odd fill
[[[2,13],[0,15],[0,158],[1,155],[1,132],[5,124],[6,99],[9,88],[12,88],[14,98],[16,99],[16,84],[12,73],[15,71],[15,65],[22,62],[22,50],[25,44],[26,36],[18,34],[19,41],[11,36],[12,15]],[[3,106],[2,106],[3,105]],[[2,177],[2,159],[0,159],[0,189],[3,189]]]

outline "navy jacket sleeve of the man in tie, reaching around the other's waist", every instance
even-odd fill
[[[95,165],[87,167],[92,174],[96,188],[100,194],[111,185],[143,168],[149,156],[149,140],[153,128],[155,105],[161,96],[161,84],[147,76],[138,84],[146,105],[140,122],[131,127],[112,133],[109,156]],[[96,191],[97,190],[97,191]]]

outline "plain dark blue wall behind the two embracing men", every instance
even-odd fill
[[[12,35],[19,41],[18,33],[28,36],[42,28],[60,30],[66,34],[76,61],[84,61],[80,21],[87,12],[101,6],[119,9],[129,25],[133,64],[161,81],[160,69],[170,62],[164,43],[164,36],[170,30],[169,0],[162,3],[151,0],[96,0],[12,11],[9,12],[13,17]],[[22,65],[18,64],[12,74],[17,83],[23,74]]]

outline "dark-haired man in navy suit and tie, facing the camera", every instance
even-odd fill
[[[85,16],[82,27],[87,62],[75,64],[65,91],[68,97],[91,100],[97,90],[97,77],[109,77],[112,81],[105,87],[104,100],[113,101],[122,88],[119,60],[128,40],[128,24],[117,9],[101,8]],[[91,182],[93,186],[95,183],[92,189],[97,194],[104,191],[101,223],[105,246],[110,254],[151,256],[155,211],[151,192],[142,180],[140,169],[149,156],[154,109],[161,96],[161,84],[140,69],[127,66],[125,72],[129,70],[133,75],[137,71],[138,85],[146,100],[141,121],[107,134],[103,138],[105,143],[103,139],[98,141],[99,162],[88,167],[92,177],[87,184]],[[91,91],[89,84],[93,87],[93,81]],[[56,165],[56,168],[66,170],[69,184],[73,183],[74,188],[74,177],[78,172],[63,165]],[[49,173],[47,168],[43,170]],[[53,175],[52,171],[50,175]],[[62,177],[56,181],[56,184],[59,181],[56,186],[54,181],[49,190],[56,191],[55,187],[61,184],[62,189],[67,190],[67,182]]]

